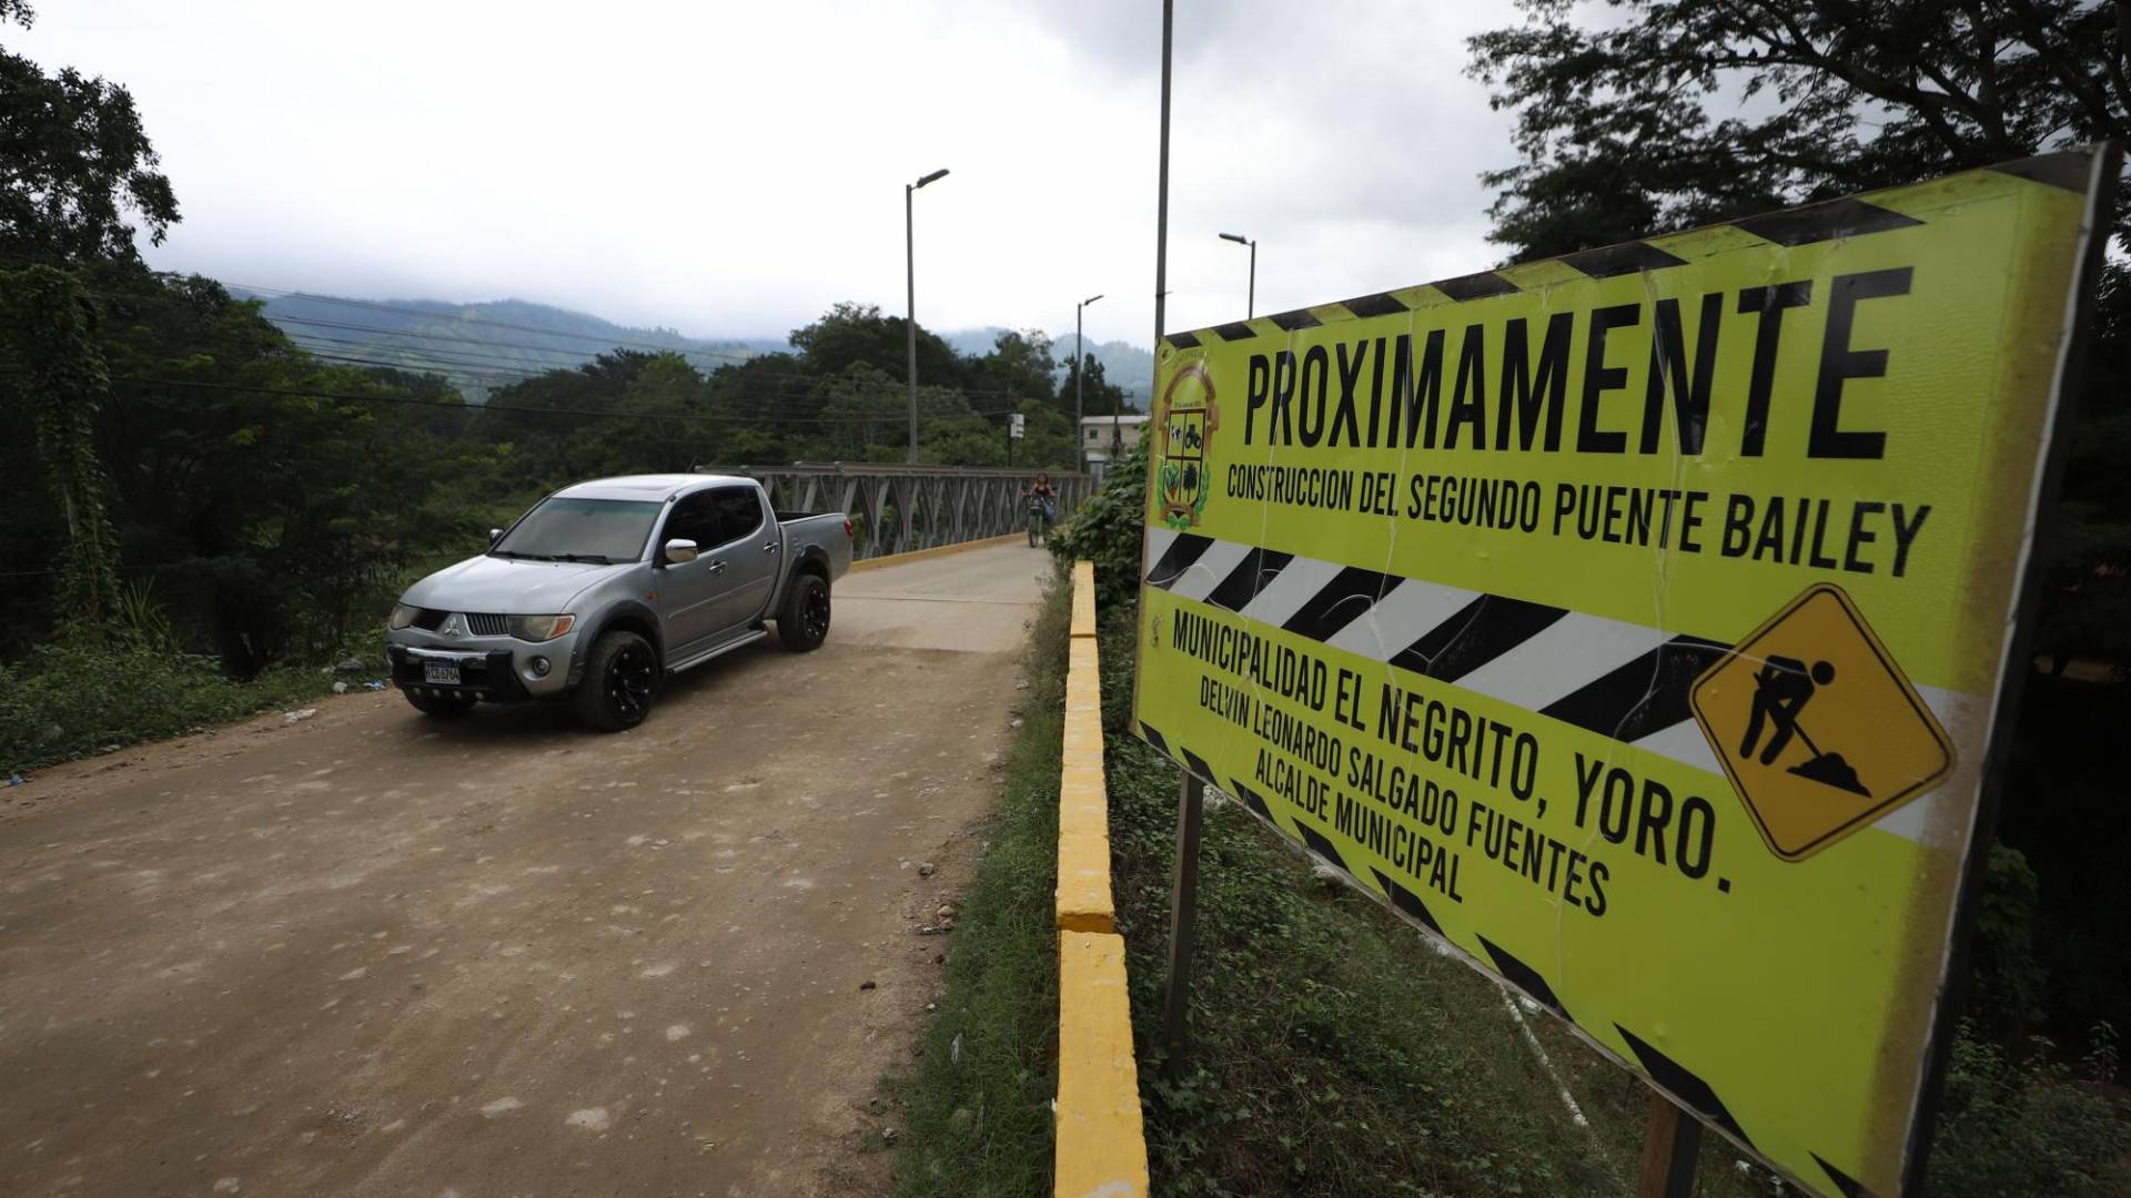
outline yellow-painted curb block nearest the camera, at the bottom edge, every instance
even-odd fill
[[[1132,1062],[1125,938],[1059,932],[1059,1198],[1146,1194],[1140,1070]]]

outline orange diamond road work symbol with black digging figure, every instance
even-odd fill
[[[1799,595],[1694,682],[1694,718],[1769,848],[1803,861],[1922,795],[1954,748],[1839,586]]]

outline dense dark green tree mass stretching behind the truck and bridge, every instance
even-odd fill
[[[9,19],[28,4],[0,0]],[[571,369],[533,362],[584,341],[494,320],[514,309],[373,305],[343,322],[394,337],[337,343],[298,303],[290,337],[262,301],[141,262],[179,209],[121,85],[0,49],[0,770],[322,689],[318,665],[375,657],[409,576],[575,477],[908,450],[904,322],[872,307],[791,352],[652,330]],[[467,371],[398,369],[467,328],[445,347]],[[1004,465],[1021,414],[1014,460],[1070,467],[1057,371],[1040,333],[967,356],[918,330],[918,458]],[[1087,373],[1087,409],[1112,411]]]

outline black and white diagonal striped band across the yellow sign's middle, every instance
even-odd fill
[[[1694,723],[1688,691],[1730,650],[1726,642],[1170,529],[1149,529],[1144,552],[1146,586],[1178,599],[1451,682],[1694,770],[1724,770]],[[1771,608],[1779,601],[1771,599]],[[1954,735],[1984,716],[1973,695],[1935,686],[1918,693]],[[1926,795],[1903,804],[1873,827],[1924,840],[1933,802]]]

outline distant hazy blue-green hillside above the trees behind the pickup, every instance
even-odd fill
[[[782,337],[705,341],[526,301],[247,296],[266,301],[266,320],[320,358],[439,373],[469,396],[543,371],[573,369],[618,347],[669,350],[703,371],[786,347]]]

